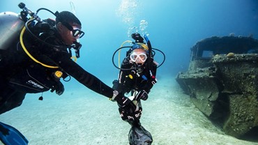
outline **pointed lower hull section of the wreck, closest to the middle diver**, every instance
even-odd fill
[[[209,73],[208,73],[209,74]],[[176,81],[190,96],[195,106],[206,116],[213,116],[216,107],[215,100],[219,97],[218,79],[205,73],[195,75],[178,75]]]

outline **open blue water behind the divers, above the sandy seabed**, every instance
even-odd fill
[[[20,13],[20,0],[1,0],[0,11]],[[73,11],[70,1],[43,0],[22,1],[36,11],[47,8],[55,12]],[[112,64],[112,55],[130,32],[146,33],[154,48],[166,55],[163,66],[158,68],[158,79],[175,77],[179,71],[188,69],[190,47],[198,40],[211,36],[250,36],[258,38],[257,0],[75,0],[75,15],[82,22],[85,36],[81,57],[77,63],[96,77],[112,85],[119,70]],[[54,18],[40,11],[41,18]],[[144,30],[140,22],[144,20]],[[129,33],[128,33],[129,31]],[[122,55],[124,56],[124,54]],[[162,62],[157,52],[155,60]],[[117,56],[114,62],[117,64]],[[72,79],[65,83],[67,91],[84,86]]]

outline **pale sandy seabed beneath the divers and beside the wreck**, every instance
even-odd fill
[[[26,96],[21,107],[0,115],[0,121],[22,132],[30,145],[126,145],[130,125],[121,120],[115,102],[84,89],[62,96]],[[258,145],[225,135],[183,94],[174,77],[162,77],[149,99],[142,101],[141,122],[153,145]],[[1,144],[1,143],[0,143]]]

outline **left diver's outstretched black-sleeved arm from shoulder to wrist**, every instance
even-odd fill
[[[59,33],[57,33],[56,29],[53,29],[52,32],[54,32],[54,36],[51,35],[51,33],[43,33],[42,35],[40,35],[40,38],[52,45],[63,45],[63,41],[59,39],[61,38],[61,36]],[[100,79],[98,79],[94,75],[91,75],[91,73],[87,72],[72,59],[70,59],[70,54],[68,53],[66,48],[52,47],[45,44],[41,48],[41,53],[52,59],[52,61],[54,61],[56,65],[59,66],[59,68],[68,73],[68,75],[74,77],[78,82],[80,82],[87,88],[103,96],[106,96],[107,98],[112,98],[117,102],[120,102],[120,100],[123,99],[123,96],[121,96],[121,94],[116,94],[116,96],[119,97],[114,96],[114,89],[104,84],[102,81],[100,81]]]

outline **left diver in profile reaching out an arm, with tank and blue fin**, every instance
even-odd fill
[[[24,3],[19,6],[22,8],[20,15],[0,14],[0,34],[10,38],[0,41],[0,114],[22,105],[26,93],[50,90],[61,95],[64,87],[60,79],[67,82],[70,76],[92,91],[116,101],[119,107],[135,109],[123,93],[107,86],[71,59],[72,48],[75,49],[75,59],[79,58],[82,45],[77,40],[84,36],[82,24],[73,13],[52,13],[46,8],[33,13]],[[37,15],[40,10],[50,11],[56,19],[40,20]],[[4,123],[0,123],[0,139],[3,144],[11,144],[13,140],[24,141],[19,144],[28,143],[20,132]]]

